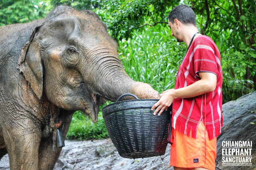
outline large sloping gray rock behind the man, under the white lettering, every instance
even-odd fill
[[[223,127],[217,137],[216,170],[256,169],[256,91],[222,105]],[[255,123],[255,124],[251,124]],[[222,165],[223,141],[252,141],[252,166]],[[224,152],[225,154],[225,152]],[[235,161],[239,163],[239,161]]]

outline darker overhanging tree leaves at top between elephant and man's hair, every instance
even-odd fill
[[[105,8],[112,15],[102,19],[108,23],[113,38],[127,40],[143,24],[166,23],[172,5],[169,0],[109,0]]]

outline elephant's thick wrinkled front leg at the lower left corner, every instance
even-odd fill
[[[11,170],[38,170],[38,148],[41,130],[30,119],[6,122],[3,137],[9,154]]]

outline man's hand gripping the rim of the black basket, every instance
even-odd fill
[[[171,106],[173,100],[175,99],[173,92],[174,89],[169,89],[160,94],[160,100],[151,108],[151,110],[154,110],[158,106],[154,112],[154,115],[156,115],[159,110],[158,116],[160,116],[164,110],[167,111],[168,107]]]

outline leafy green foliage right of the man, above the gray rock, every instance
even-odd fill
[[[256,89],[256,4],[245,1],[192,1],[202,34],[213,39],[221,53],[223,102]]]

